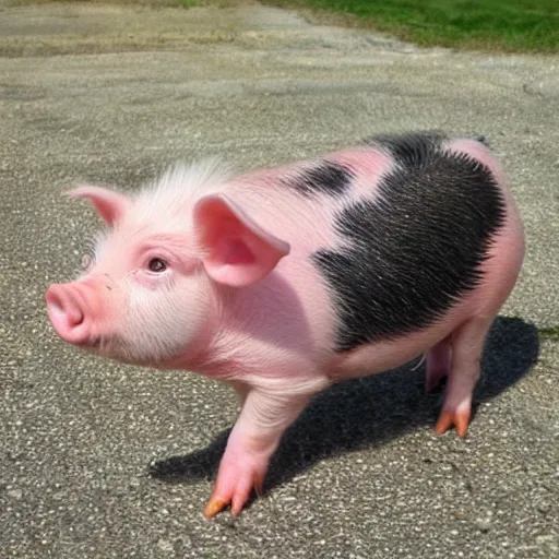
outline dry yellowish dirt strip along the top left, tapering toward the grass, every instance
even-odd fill
[[[300,14],[247,0],[227,0],[188,10],[58,3],[50,4],[48,11],[40,5],[7,10],[0,20],[0,56],[175,50],[218,43],[308,49],[336,47],[346,43],[348,33],[355,34],[357,48],[358,43],[370,46],[371,35],[364,38],[365,32],[317,25]],[[381,35],[374,40],[403,47],[400,41]]]

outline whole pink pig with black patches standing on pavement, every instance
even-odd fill
[[[108,233],[47,292],[59,336],[103,356],[229,382],[242,407],[206,518],[238,514],[285,429],[336,381],[427,354],[437,423],[465,436],[487,332],[524,237],[480,140],[374,136],[231,177],[177,166],[133,195],[80,187]]]

